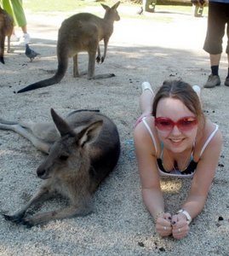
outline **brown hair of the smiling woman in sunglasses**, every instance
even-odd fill
[[[190,84],[182,80],[165,80],[163,85],[157,91],[152,103],[152,115],[157,114],[157,104],[163,98],[174,98],[183,102],[183,104],[188,108],[198,119],[199,124],[204,126],[205,116],[203,113],[202,105],[198,94],[192,89]]]

